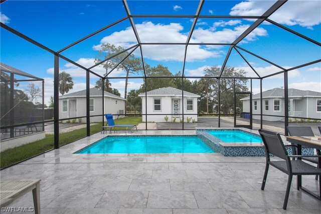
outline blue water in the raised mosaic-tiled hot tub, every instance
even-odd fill
[[[256,137],[251,134],[247,134],[242,131],[208,131],[211,135],[217,137],[225,143],[262,143],[260,137]]]

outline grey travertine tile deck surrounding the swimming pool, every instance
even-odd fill
[[[115,135],[195,135],[195,131],[116,132]],[[220,153],[73,154],[107,134],[95,134],[1,171],[1,179],[41,179],[42,213],[320,213],[321,201],[296,190],[293,177],[265,157]],[[318,189],[314,176],[302,185]],[[32,193],[9,205],[33,207]],[[16,213],[16,212],[15,212]]]

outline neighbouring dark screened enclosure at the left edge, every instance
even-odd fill
[[[1,70],[1,150],[34,142],[45,137],[43,105],[30,101],[26,82],[41,82],[40,100],[43,100],[44,79],[26,73],[5,63]],[[43,101],[42,101],[43,103]]]

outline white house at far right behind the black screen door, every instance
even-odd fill
[[[240,99],[243,101],[243,112],[250,112],[250,97]],[[273,88],[262,92],[263,115],[275,115],[280,117],[263,116],[264,121],[284,120],[284,89]],[[288,113],[290,117],[321,119],[321,92],[310,90],[288,89]],[[252,96],[253,119],[260,120],[260,93]]]

